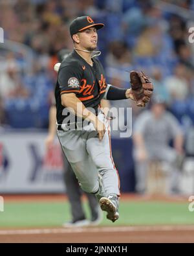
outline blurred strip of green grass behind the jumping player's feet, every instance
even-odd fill
[[[89,217],[87,204],[84,207]],[[0,212],[0,228],[61,227],[69,220],[67,202],[5,202],[5,211]],[[155,224],[194,224],[194,212],[180,202],[120,202],[120,218],[114,226]],[[113,226],[105,213],[101,225]]]

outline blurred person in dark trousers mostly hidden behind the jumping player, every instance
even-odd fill
[[[62,62],[64,58],[70,53],[68,49],[62,49],[58,52],[58,60]],[[55,68],[56,70],[56,68]],[[57,70],[56,70],[57,71]],[[58,71],[57,71],[58,72]],[[107,100],[106,100],[107,102]],[[105,100],[102,102],[102,106],[108,107]],[[49,126],[48,126],[48,136],[45,141],[47,148],[54,143],[54,138],[56,137],[56,102],[55,99],[52,100],[52,105],[50,106],[49,111]],[[85,213],[83,211],[83,206],[81,204],[81,189],[78,185],[78,180],[70,164],[68,163],[66,157],[63,155],[63,164],[64,164],[64,181],[66,187],[67,198],[70,203],[70,210],[72,215],[72,220],[63,224],[64,227],[80,227],[80,226],[96,226],[100,224],[102,220],[102,214],[99,211],[98,201],[96,200],[96,196],[94,194],[90,194],[85,192],[87,196],[87,200],[89,202],[89,208],[91,211],[91,221],[85,218]]]

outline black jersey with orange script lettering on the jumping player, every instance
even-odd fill
[[[61,63],[55,89],[58,124],[62,124],[67,117],[61,104],[61,95],[65,93],[75,93],[86,108],[94,108],[98,113],[107,83],[100,61],[95,58],[92,61],[93,66],[72,51]]]

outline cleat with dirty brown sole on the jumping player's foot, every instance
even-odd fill
[[[116,209],[116,205],[107,197],[102,197],[99,201],[100,207],[102,211],[107,212],[107,219],[112,220],[112,222],[115,222],[115,220],[118,220],[119,213]]]

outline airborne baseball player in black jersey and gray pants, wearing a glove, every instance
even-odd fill
[[[91,17],[77,17],[70,23],[74,50],[59,67],[55,89],[57,130],[65,153],[83,191],[95,194],[107,218],[119,217],[120,181],[111,154],[111,139],[100,101],[136,100],[138,106],[149,101],[153,86],[142,73],[131,73],[130,89],[107,84],[102,64],[94,56],[97,30],[104,25]]]

